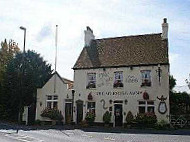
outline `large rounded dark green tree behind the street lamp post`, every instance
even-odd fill
[[[24,62],[23,62],[24,58]],[[3,83],[3,97],[6,118],[17,120],[24,106],[35,105],[37,88],[50,78],[51,65],[40,54],[28,50],[18,53],[7,66]],[[20,106],[19,106],[20,104]]]

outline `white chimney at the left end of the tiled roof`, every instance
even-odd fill
[[[92,29],[89,26],[87,26],[86,30],[84,31],[84,34],[85,46],[90,46],[91,40],[95,39]]]

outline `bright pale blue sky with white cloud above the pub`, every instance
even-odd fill
[[[169,23],[170,74],[186,88],[190,73],[190,0],[0,0],[0,41],[13,39],[35,50],[54,68],[58,25],[57,71],[73,80],[74,66],[84,47],[84,30],[95,38],[161,33]],[[189,78],[190,79],[190,78]]]

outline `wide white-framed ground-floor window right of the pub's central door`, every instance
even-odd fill
[[[154,101],[139,101],[139,113],[154,113]]]

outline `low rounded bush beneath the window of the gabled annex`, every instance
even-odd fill
[[[61,111],[59,111],[58,109],[45,108],[42,111],[41,116],[50,118],[52,120],[63,120],[63,115],[61,114]]]

